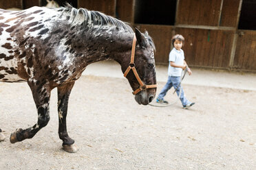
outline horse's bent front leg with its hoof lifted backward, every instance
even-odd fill
[[[38,120],[35,125],[26,130],[16,130],[10,136],[10,142],[16,143],[23,141],[26,138],[32,138],[42,127],[45,127],[50,121],[49,103],[50,103],[50,87],[45,83],[36,85],[33,82],[28,82],[32,90],[34,102],[36,104]]]

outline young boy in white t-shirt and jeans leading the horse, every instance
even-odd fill
[[[191,103],[186,97],[184,97],[184,91],[180,85],[180,77],[182,74],[182,70],[187,69],[189,75],[192,74],[191,69],[186,64],[184,60],[184,52],[181,49],[184,45],[184,37],[182,35],[176,34],[171,39],[171,43],[173,45],[173,49],[169,54],[169,67],[168,67],[168,80],[167,84],[165,84],[164,88],[162,88],[156,102],[160,104],[168,104],[168,101],[164,100],[164,96],[167,94],[167,91],[173,86],[176,90],[177,95],[180,95],[180,101],[182,102],[183,108],[189,108],[193,106],[195,103]],[[181,94],[180,94],[181,91]]]

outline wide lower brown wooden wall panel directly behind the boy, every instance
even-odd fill
[[[156,45],[156,63],[167,64],[171,51],[171,38],[182,34],[185,38],[184,53],[191,66],[225,69],[229,67],[235,31],[178,28],[164,25],[135,25],[142,32],[147,30]]]

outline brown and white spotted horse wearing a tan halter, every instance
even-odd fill
[[[65,151],[76,152],[74,140],[67,134],[67,104],[85,67],[100,60],[115,60],[136,91],[138,104],[147,105],[156,95],[154,50],[147,33],[136,29],[134,34],[126,23],[100,12],[70,5],[20,12],[0,10],[0,81],[28,82],[38,112],[37,123],[16,130],[10,142],[32,138],[47,125],[50,92],[58,88],[58,135]],[[3,137],[1,130],[0,134]]]

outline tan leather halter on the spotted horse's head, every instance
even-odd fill
[[[139,93],[142,90],[147,90],[147,88],[156,88],[158,86],[157,84],[146,85],[140,79],[140,76],[138,75],[136,68],[135,68],[135,64],[134,64],[135,47],[136,47],[136,35],[134,34],[134,40],[132,42],[132,48],[131,48],[131,62],[124,73],[124,76],[126,77],[127,74],[129,73],[129,71],[132,70],[134,72],[134,75],[135,75],[138,83],[140,84],[140,88],[138,88],[137,90],[134,90],[134,92],[132,93],[134,95],[136,95],[137,93]]]

